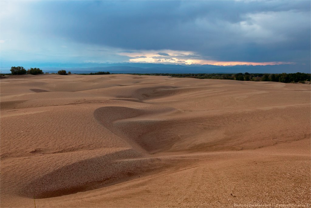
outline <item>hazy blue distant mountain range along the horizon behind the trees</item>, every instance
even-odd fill
[[[60,69],[72,73],[90,73],[98,71],[109,71],[110,73],[310,73],[310,64],[282,64],[282,65],[174,65],[174,64],[153,64],[153,63],[81,63],[81,64],[55,64],[36,63],[21,65],[28,69],[39,67],[44,72],[57,72]],[[50,67],[53,65],[53,67]],[[16,65],[17,66],[17,65]],[[10,67],[1,67],[1,73],[10,73]]]

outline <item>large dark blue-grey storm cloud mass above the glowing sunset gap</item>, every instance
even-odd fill
[[[310,1],[40,1],[30,9],[19,22],[24,31],[128,53],[310,62]]]

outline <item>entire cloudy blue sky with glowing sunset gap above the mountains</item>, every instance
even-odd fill
[[[0,67],[292,65],[310,71],[311,1],[0,1]]]

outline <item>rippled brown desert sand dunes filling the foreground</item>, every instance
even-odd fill
[[[16,75],[0,108],[1,207],[311,204],[310,85]]]

